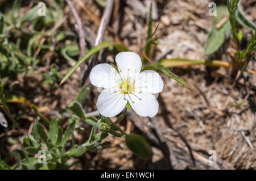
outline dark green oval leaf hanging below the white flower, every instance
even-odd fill
[[[128,148],[139,158],[150,158],[151,148],[147,140],[138,134],[127,134],[125,142]]]

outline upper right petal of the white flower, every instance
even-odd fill
[[[163,86],[163,80],[159,73],[153,70],[142,71],[135,81],[135,89],[137,91],[148,92],[150,94],[162,92]]]

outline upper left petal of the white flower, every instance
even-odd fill
[[[90,72],[90,82],[97,87],[112,89],[118,86],[118,73],[109,64],[98,64]]]

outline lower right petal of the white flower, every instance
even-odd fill
[[[136,96],[135,96],[136,95]],[[131,108],[140,116],[153,117],[158,112],[158,101],[152,94],[130,94],[128,98]]]

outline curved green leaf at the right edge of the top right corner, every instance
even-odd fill
[[[246,18],[241,2],[238,3],[238,8],[235,16],[236,16],[237,22],[240,23],[243,27],[246,27],[252,31],[255,31],[255,24]]]

